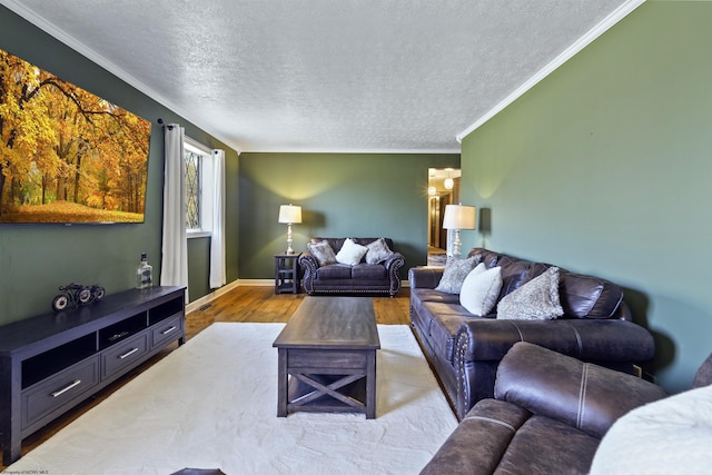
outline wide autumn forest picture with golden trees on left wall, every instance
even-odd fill
[[[0,49],[0,224],[144,222],[150,130]]]

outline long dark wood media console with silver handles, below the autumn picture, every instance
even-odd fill
[[[113,294],[86,307],[0,326],[2,463],[22,438],[174,342],[185,342],[185,288]]]

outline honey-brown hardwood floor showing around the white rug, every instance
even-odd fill
[[[305,294],[275,295],[271,286],[237,287],[186,316],[186,339],[189,340],[215,321],[286,323],[305,296]],[[394,298],[387,296],[373,297],[376,323],[383,325],[408,325],[409,297],[411,294],[407,288],[402,289]],[[177,344],[171,345],[88,400],[27,437],[22,441],[22,455],[57,434],[62,427],[101,403],[111,393],[150,368],[161,358],[168,356],[176,348]],[[0,471],[4,468],[6,466],[0,463]]]

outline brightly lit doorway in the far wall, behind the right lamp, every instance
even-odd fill
[[[447,205],[459,202],[462,171],[455,168],[427,170],[427,265],[444,266],[447,259],[448,231],[443,229]]]

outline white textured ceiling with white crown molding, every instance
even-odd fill
[[[642,0],[0,2],[240,151],[458,152]]]

